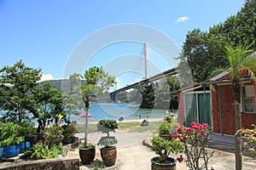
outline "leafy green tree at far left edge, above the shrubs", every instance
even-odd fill
[[[0,107],[15,112],[18,122],[21,122],[26,110],[31,111],[34,117],[39,117],[38,112],[29,105],[36,104],[34,94],[40,77],[40,69],[26,67],[21,60],[14,66],[4,66],[0,70]],[[38,123],[42,124],[40,120]]]

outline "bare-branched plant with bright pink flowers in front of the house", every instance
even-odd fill
[[[208,135],[211,128],[207,123],[191,122],[191,127],[176,125],[171,129],[172,138],[179,139],[184,144],[184,154],[186,156],[186,165],[189,169],[200,170],[207,169],[213,151],[207,150]],[[201,163],[200,160],[203,160]],[[177,161],[183,161],[183,156],[177,158]]]

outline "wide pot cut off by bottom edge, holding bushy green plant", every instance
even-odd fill
[[[159,156],[153,157],[151,161],[151,170],[176,170],[176,159],[168,157],[166,163],[158,163]]]

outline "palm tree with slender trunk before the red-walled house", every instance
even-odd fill
[[[230,76],[230,82],[232,84],[236,117],[236,170],[241,170],[241,132],[238,131],[241,129],[241,81],[242,75],[247,72],[255,83],[256,78],[254,72],[256,71],[256,57],[253,56],[253,50],[250,50],[247,46],[238,46],[235,49],[229,46],[225,47],[225,49],[226,59],[228,59],[229,66],[225,69],[218,69],[218,71],[227,72]]]

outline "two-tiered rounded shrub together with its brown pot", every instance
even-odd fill
[[[103,163],[107,166],[113,166],[116,161],[117,151],[113,144],[117,144],[117,139],[110,136],[110,132],[115,132],[114,129],[118,128],[119,124],[115,120],[104,119],[97,123],[97,129],[102,133],[107,133],[107,136],[102,137],[98,144],[104,147],[100,148]]]

